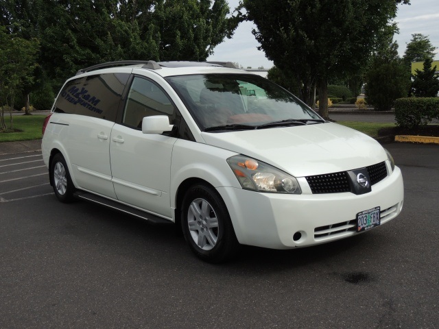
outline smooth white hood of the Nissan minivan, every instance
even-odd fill
[[[335,173],[387,160],[375,139],[336,123],[239,132],[202,132],[207,144],[272,164],[296,177]]]

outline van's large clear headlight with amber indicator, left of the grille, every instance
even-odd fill
[[[300,194],[300,186],[292,175],[253,158],[232,156],[227,159],[242,188],[246,190]]]

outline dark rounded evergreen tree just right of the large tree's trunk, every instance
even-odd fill
[[[366,73],[366,101],[375,110],[388,111],[395,99],[407,97],[410,75],[398,56],[398,45],[390,43],[385,51],[379,51],[372,59]]]

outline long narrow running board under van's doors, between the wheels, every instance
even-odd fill
[[[118,210],[120,212],[124,212],[128,215],[138,217],[141,219],[145,219],[150,223],[154,224],[174,224],[172,221],[168,219],[164,219],[162,217],[158,217],[156,215],[152,215],[149,212],[145,212],[136,208],[132,208],[130,206],[126,206],[125,204],[119,204],[119,202],[112,201],[110,199],[106,199],[105,197],[99,197],[99,195],[95,195],[93,193],[88,193],[84,191],[76,191],[73,193],[75,197],[78,199],[83,199],[88,202],[93,202],[95,204],[101,204],[102,206],[106,206],[108,208],[112,208]]]

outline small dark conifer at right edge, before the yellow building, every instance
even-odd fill
[[[439,92],[439,76],[436,75],[436,65],[431,68],[431,58],[425,58],[424,69],[416,69],[413,75],[412,90],[416,97],[436,97]]]

